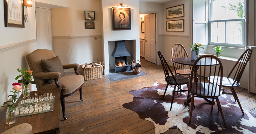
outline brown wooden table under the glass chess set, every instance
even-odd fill
[[[16,122],[11,125],[6,125],[4,118],[0,123],[0,133],[22,123],[29,123],[32,126],[32,134],[52,133],[60,130],[60,88],[32,91],[30,92],[30,97],[35,97],[35,93],[38,96],[43,95],[43,93],[52,93],[55,96],[54,110],[41,114],[16,117]],[[23,98],[23,93],[19,98]],[[19,102],[20,100],[15,104],[18,105]]]

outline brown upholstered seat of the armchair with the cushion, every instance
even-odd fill
[[[63,95],[68,95],[73,91],[77,90],[84,83],[83,75],[68,74],[59,78],[59,83],[63,87]],[[53,89],[56,88],[55,82],[44,84],[41,89]]]

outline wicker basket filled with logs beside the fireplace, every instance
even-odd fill
[[[89,65],[91,65],[90,63]],[[103,71],[103,61],[101,63],[102,66],[97,66],[97,67],[86,67],[84,66],[85,64],[82,64],[83,68],[83,75],[84,75],[84,80],[94,80],[94,79],[100,79],[102,78],[102,71]],[[83,67],[84,66],[84,67]]]

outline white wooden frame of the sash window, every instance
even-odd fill
[[[244,0],[244,18],[243,19],[224,19],[224,20],[211,20],[212,18],[212,1],[216,0],[209,0],[209,45],[214,46],[222,46],[222,47],[234,47],[234,48],[245,48],[246,46],[246,0]],[[231,43],[218,43],[218,42],[212,42],[212,23],[214,22],[225,22],[225,42],[226,42],[226,22],[236,22],[236,21],[242,21],[242,45],[240,44],[231,44]]]

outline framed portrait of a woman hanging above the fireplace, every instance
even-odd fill
[[[113,12],[113,30],[131,30],[131,8],[115,8]]]

